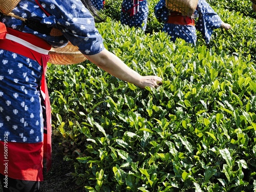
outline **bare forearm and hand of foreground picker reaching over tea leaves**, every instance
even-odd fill
[[[86,57],[99,68],[108,72],[109,74],[135,84],[140,88],[148,87],[158,87],[162,84],[162,78],[158,76],[141,76],[136,71],[132,70],[125,63],[119,59],[115,54],[104,49],[95,55],[86,55]]]

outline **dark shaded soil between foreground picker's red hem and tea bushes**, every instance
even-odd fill
[[[44,181],[40,183],[40,192],[84,192],[75,184],[71,173],[73,165],[63,160],[63,153],[58,143],[52,143],[52,168],[44,174]],[[0,192],[3,192],[0,182]]]

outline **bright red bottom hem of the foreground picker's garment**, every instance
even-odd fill
[[[26,181],[43,181],[43,143],[0,141],[0,173]]]

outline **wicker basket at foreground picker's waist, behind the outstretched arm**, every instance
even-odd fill
[[[85,61],[87,58],[70,42],[65,47],[52,48],[48,62],[55,65],[72,65]]]

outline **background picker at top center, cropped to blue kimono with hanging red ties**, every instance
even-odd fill
[[[123,0],[121,24],[146,30],[148,6],[146,0]]]

